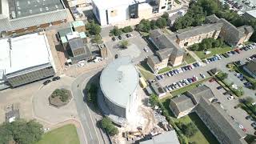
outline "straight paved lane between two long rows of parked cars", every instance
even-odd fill
[[[239,60],[245,60],[246,58],[249,58],[252,54],[256,54],[256,49],[247,50],[247,51],[243,50],[242,53],[240,54],[235,54],[230,56],[229,58],[222,58],[221,60],[210,62],[206,64],[206,66],[197,67],[193,70],[187,70],[182,74],[178,74],[172,77],[165,77],[164,79],[161,79],[159,82],[162,86],[167,86],[172,84],[173,82],[178,82],[179,80],[182,80],[185,78],[191,78],[193,77],[193,75],[198,75],[200,73],[206,74],[206,71],[214,68],[217,68],[218,70],[223,70],[223,69],[226,69],[227,63],[235,62]]]

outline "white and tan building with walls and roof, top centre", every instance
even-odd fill
[[[151,18],[170,10],[174,0],[92,0],[93,12],[102,26],[131,18]]]

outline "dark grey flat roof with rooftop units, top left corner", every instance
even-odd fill
[[[9,0],[10,18],[13,19],[62,9],[62,0]]]

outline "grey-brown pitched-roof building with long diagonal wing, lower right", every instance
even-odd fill
[[[209,130],[223,144],[246,144],[246,134],[230,118],[207,86],[199,86],[184,95],[170,100],[170,110],[178,118],[196,112]]]

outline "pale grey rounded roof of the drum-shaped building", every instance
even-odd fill
[[[102,93],[111,102],[126,107],[130,95],[138,86],[138,71],[130,57],[117,58],[102,71],[100,78]]]

